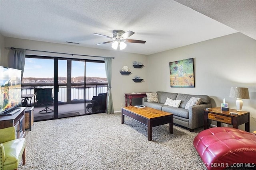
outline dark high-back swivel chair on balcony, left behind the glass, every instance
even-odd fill
[[[36,103],[44,105],[45,108],[38,113],[51,113],[53,109],[50,109],[48,106],[53,104],[52,98],[52,88],[36,88]]]

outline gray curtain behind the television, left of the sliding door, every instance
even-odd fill
[[[23,77],[25,66],[25,49],[13,49],[13,57],[9,60],[9,67],[22,70],[21,78]]]

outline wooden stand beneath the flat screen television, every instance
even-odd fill
[[[26,135],[26,132],[24,130],[25,108],[26,107],[16,107],[15,109],[20,109],[20,111],[13,115],[0,115],[0,129],[15,126],[16,139],[24,138]]]

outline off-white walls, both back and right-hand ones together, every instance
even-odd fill
[[[2,40],[1,37],[0,39]],[[121,104],[124,104],[124,93],[156,91],[206,94],[213,99],[213,106],[220,106],[223,98],[226,98],[229,107],[235,109],[236,99],[228,97],[230,87],[248,87],[250,100],[243,100],[243,110],[250,111],[250,128],[251,131],[256,130],[256,40],[242,33],[235,33],[149,56],[9,37],[5,37],[4,42],[5,57],[10,53],[10,50],[6,47],[12,46],[42,51],[115,57],[112,70],[114,111],[119,111]],[[0,48],[2,51],[3,47]],[[38,54],[30,51],[27,51],[27,53]],[[40,53],[40,55],[49,55],[49,53]],[[72,56],[59,56],[72,58]],[[188,58],[194,58],[196,87],[170,88],[169,63]],[[132,61],[135,60],[144,63],[144,67],[140,69],[133,68]],[[124,65],[131,68],[132,74],[129,76],[122,76],[119,72]],[[144,82],[134,83],[132,78],[136,75],[143,78]],[[244,129],[244,125],[241,125],[240,129]]]

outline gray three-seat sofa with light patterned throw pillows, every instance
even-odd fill
[[[159,103],[147,102],[147,98],[142,98],[142,105],[173,113],[174,124],[186,127],[190,132],[193,132],[194,129],[204,125],[204,109],[212,107],[210,97],[207,95],[191,95],[170,92],[156,93],[158,95]],[[188,109],[185,109],[185,106],[191,97],[201,98],[201,102],[199,105],[190,106]],[[180,106],[172,107],[164,105],[167,98],[172,100],[181,100]]]

